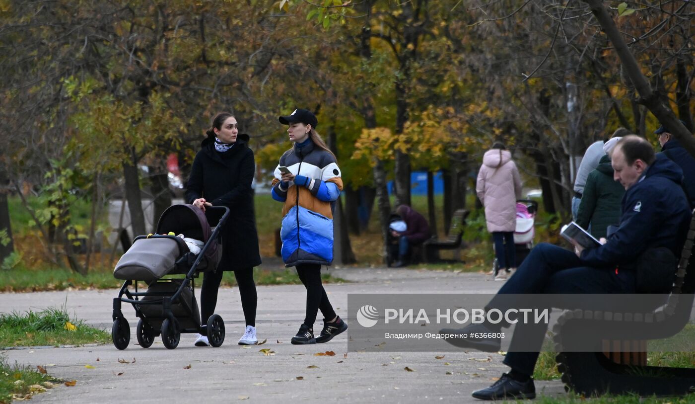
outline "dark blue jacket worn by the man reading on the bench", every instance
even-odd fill
[[[666,156],[657,154],[636,184],[623,195],[616,232],[598,248],[582,252],[587,266],[633,269],[648,248],[666,247],[680,257],[690,222],[690,207],[680,186],[683,172]]]

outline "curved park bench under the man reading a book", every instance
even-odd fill
[[[647,366],[646,341],[677,334],[689,321],[695,292],[695,259],[691,259],[695,239],[695,211],[687,240],[678,261],[676,280],[658,307],[649,312],[591,311],[575,309],[558,318],[553,331],[557,369],[567,391],[583,396],[638,394],[673,396],[695,392],[694,368]],[[664,303],[665,302],[665,303]],[[600,327],[596,352],[563,351],[573,338],[591,338],[582,330]],[[635,339],[639,336],[640,339]],[[600,340],[599,340],[600,339]],[[567,345],[569,346],[569,345]]]

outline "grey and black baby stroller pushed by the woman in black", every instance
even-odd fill
[[[211,346],[222,345],[222,317],[213,314],[206,327],[200,324],[193,280],[200,273],[217,268],[222,257],[220,229],[227,216],[227,207],[207,207],[203,212],[190,204],[177,204],[162,213],[156,234],[136,237],[113,270],[116,279],[125,281],[113,299],[111,338],[116,348],[123,350],[130,342],[130,326],[121,312],[122,302],[131,303],[140,318],[136,335],[142,348],[152,346],[154,337],[161,334],[164,346],[174,349],[179,345],[181,332],[198,332],[207,335]],[[214,229],[212,223],[216,223]],[[183,234],[187,239],[171,234]],[[194,254],[191,250],[197,250],[201,242],[202,247]],[[185,277],[167,277],[177,274]],[[133,281],[135,291],[130,291],[128,286]],[[138,281],[147,283],[147,291],[138,292]]]

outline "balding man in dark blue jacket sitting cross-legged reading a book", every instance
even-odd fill
[[[690,209],[680,183],[682,170],[665,156],[655,156],[652,146],[639,136],[625,136],[612,152],[614,179],[626,188],[618,229],[603,245],[584,250],[575,246],[575,253],[556,245],[541,243],[534,248],[516,275],[507,280],[498,294],[485,307],[500,309],[505,293],[635,293],[635,264],[641,252],[665,247],[678,256],[689,226]],[[602,239],[602,242],[604,239]],[[674,267],[675,271],[675,267]],[[547,324],[517,323],[512,336],[515,341],[537,341],[540,350]],[[443,334],[496,333],[509,327],[504,321],[492,324],[471,324],[461,330],[441,330]],[[461,348],[496,352],[499,338],[447,339]],[[491,387],[473,392],[482,400],[502,398],[534,398],[531,378],[539,352],[513,352],[504,364],[512,368]]]

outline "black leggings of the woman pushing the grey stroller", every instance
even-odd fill
[[[203,277],[203,286],[200,290],[200,319],[202,325],[208,323],[208,318],[215,313],[217,306],[217,294],[222,282],[222,270],[206,272]],[[256,327],[256,283],[254,282],[253,268],[235,269],[234,277],[239,286],[241,296],[241,308],[244,310],[246,325]]]

